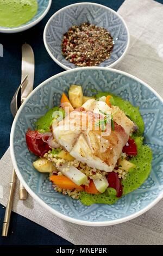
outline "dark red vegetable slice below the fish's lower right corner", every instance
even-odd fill
[[[118,174],[111,172],[108,174],[109,187],[115,188],[117,191],[117,197],[122,196],[122,184],[121,180],[118,178]]]

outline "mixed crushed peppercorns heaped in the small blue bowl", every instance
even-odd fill
[[[104,62],[110,58],[113,47],[110,33],[89,23],[72,26],[64,34],[61,44],[65,59],[77,66],[96,66]]]

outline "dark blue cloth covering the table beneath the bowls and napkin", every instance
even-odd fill
[[[96,2],[117,10],[123,1],[99,0],[80,2]],[[9,147],[10,129],[13,121],[10,113],[10,101],[18,85],[21,83],[21,46],[27,42],[34,50],[34,87],[47,78],[64,71],[49,57],[43,44],[43,29],[48,19],[56,11],[68,4],[78,2],[74,0],[52,0],[52,6],[48,14],[35,27],[17,34],[0,33],[0,44],[3,45],[4,50],[3,57],[0,57],[0,158]],[[163,3],[163,0],[158,2]],[[4,210],[3,206],[0,205],[0,235],[2,233]],[[40,225],[12,213],[9,236],[0,236],[0,245],[71,245],[71,243]]]

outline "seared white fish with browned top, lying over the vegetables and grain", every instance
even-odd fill
[[[101,111],[114,113],[115,130],[111,131],[110,135],[103,136],[101,130],[91,129],[90,122],[87,120],[85,120],[86,130],[83,130],[78,120],[81,117],[83,119],[84,110],[87,117],[90,116],[90,111],[95,113],[96,117],[102,114]],[[120,108],[116,106],[110,108],[104,101],[94,99],[86,101],[82,108],[75,109],[71,113],[75,114],[74,117],[66,117],[64,123],[66,121],[68,125],[76,123],[73,130],[68,125],[64,126],[62,121],[57,124],[57,127],[53,125],[53,135],[57,142],[78,161],[86,163],[89,167],[111,172],[121,155],[122,148],[128,141],[134,123]]]

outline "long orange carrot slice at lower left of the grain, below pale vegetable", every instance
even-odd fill
[[[64,175],[52,175],[50,176],[49,180],[52,181],[57,187],[65,188],[66,190],[73,190],[74,188],[81,191],[84,190],[82,186],[78,186]]]

